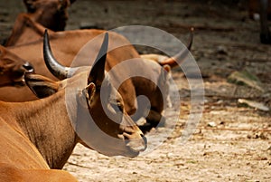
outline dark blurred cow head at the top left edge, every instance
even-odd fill
[[[63,31],[68,19],[67,8],[75,0],[23,0],[33,20],[53,31]]]

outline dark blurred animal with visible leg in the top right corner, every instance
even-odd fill
[[[261,43],[271,43],[271,34],[268,27],[268,20],[271,19],[270,0],[249,0],[249,17],[260,20],[260,41]]]

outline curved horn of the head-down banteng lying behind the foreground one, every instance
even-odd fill
[[[178,65],[178,62],[181,63],[185,60],[185,58],[187,57],[188,53],[191,51],[192,48],[192,43],[193,43],[193,31],[194,28],[192,27],[190,30],[190,38],[189,38],[189,43],[186,46],[187,49],[183,51],[181,51],[180,53],[177,53],[176,55],[174,55],[171,58],[168,58],[162,62],[159,62],[160,65],[164,66],[164,65],[169,65],[171,68],[175,67]]]

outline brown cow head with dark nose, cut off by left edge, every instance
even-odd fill
[[[33,72],[33,66],[0,45],[0,86],[23,85],[24,72]]]

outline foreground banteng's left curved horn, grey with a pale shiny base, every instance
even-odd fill
[[[51,46],[49,43],[49,37],[47,33],[47,29],[43,35],[43,59],[46,63],[49,71],[58,79],[63,80],[68,77],[68,72],[70,71],[70,67],[65,67],[58,62],[51,53]]]

